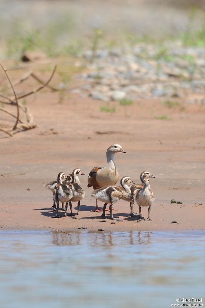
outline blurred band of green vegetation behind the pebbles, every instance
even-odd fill
[[[174,34],[167,34],[163,32],[158,37],[153,37],[151,33],[136,34],[136,31],[126,30],[121,32],[120,36],[111,35],[104,29],[93,27],[90,35],[85,38],[81,34],[73,35],[77,29],[77,22],[69,11],[66,11],[63,17],[58,20],[49,19],[43,29],[37,26],[34,30],[25,30],[26,26],[23,20],[14,18],[10,23],[10,35],[1,37],[1,41],[6,42],[6,56],[8,58],[21,59],[25,51],[43,51],[49,57],[56,57],[58,55],[80,56],[83,51],[90,49],[92,51],[91,61],[96,56],[98,49],[107,48],[112,51],[113,48],[123,48],[123,44],[128,44],[130,48],[134,48],[137,43],[154,43],[159,45],[159,50],[153,58],[158,62],[160,70],[160,60],[173,61],[173,56],[169,55],[167,47],[164,42],[180,41],[183,46],[204,46],[204,17],[203,9],[198,6],[191,6],[189,10],[187,26],[183,31]],[[194,25],[198,24],[196,28]],[[0,26],[3,27],[3,22],[0,20]],[[1,43],[0,41],[0,43]],[[122,43],[123,42],[123,43]],[[146,51],[140,55],[146,58]],[[186,59],[190,61],[192,59]]]

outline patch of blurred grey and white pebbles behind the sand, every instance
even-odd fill
[[[173,59],[162,56],[156,60],[160,47],[148,43],[137,43],[132,48],[125,44],[123,49],[98,49],[95,58],[91,49],[85,50],[82,56],[93,61],[87,63],[87,73],[75,77],[86,81],[85,86],[75,91],[80,95],[87,92],[93,99],[106,102],[129,98],[132,93],[136,93],[137,98],[144,94],[148,99],[193,94],[188,103],[194,103],[196,93],[203,95],[204,89],[203,48],[183,47],[177,42],[164,44]],[[193,64],[187,56],[193,57]],[[100,86],[106,87],[100,90]]]

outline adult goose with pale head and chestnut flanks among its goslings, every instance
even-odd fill
[[[93,189],[99,189],[108,185],[115,185],[119,179],[119,174],[116,169],[114,162],[114,155],[116,153],[126,153],[121,145],[112,144],[106,152],[107,165],[102,167],[94,167],[88,176],[88,186],[93,187]],[[98,208],[96,199],[96,208],[91,212],[99,212],[101,209]]]

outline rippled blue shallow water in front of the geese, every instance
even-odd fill
[[[1,232],[1,307],[168,308],[204,296],[204,232]]]

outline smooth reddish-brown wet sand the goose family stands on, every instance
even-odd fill
[[[110,114],[100,111],[101,101],[74,93],[63,104],[57,102],[58,94],[47,91],[37,93],[35,99],[28,97],[37,128],[12,138],[1,133],[2,229],[32,230],[39,228],[36,225],[93,231],[204,228],[204,106],[186,104],[182,111],[168,109],[159,99],[139,99],[125,108],[114,103],[117,112]],[[162,114],[171,120],[154,119]],[[155,196],[152,221],[130,218],[125,201],[114,205],[118,210],[114,215],[122,219],[115,224],[101,222],[101,213],[90,212],[95,200],[90,197],[87,177],[94,166],[106,164],[105,153],[111,144],[127,151],[115,156],[120,178],[128,175],[139,183],[144,170],[156,176],[150,180]],[[58,172],[68,174],[74,168],[85,173],[80,177],[86,193],[80,215],[77,219],[53,218],[52,193],[43,184],[55,180]],[[171,204],[171,199],[182,204]],[[139,213],[137,205],[134,212]],[[147,214],[147,208],[142,208],[142,216],[147,218]]]

